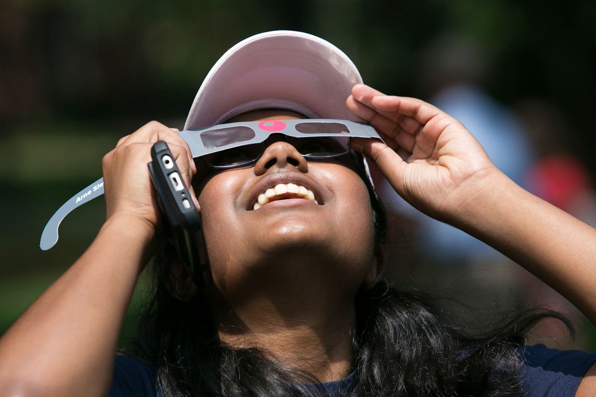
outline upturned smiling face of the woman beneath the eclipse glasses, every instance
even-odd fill
[[[257,111],[230,121],[291,118],[300,117]],[[213,280],[224,295],[288,278],[355,293],[373,265],[374,242],[370,198],[351,161],[306,161],[273,138],[249,167],[195,176]],[[311,190],[316,202],[290,192],[254,209],[259,195],[288,183]]]

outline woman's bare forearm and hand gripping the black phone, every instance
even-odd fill
[[[147,163],[167,143],[194,193],[190,148],[151,121],[103,159],[107,220],[85,253],[0,338],[0,394],[105,396],[136,281],[163,243]]]

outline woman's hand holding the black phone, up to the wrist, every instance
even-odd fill
[[[131,135],[122,137],[103,158],[106,220],[125,219],[126,224],[138,224],[156,237],[160,229],[160,210],[147,168],[151,161],[151,146],[158,140],[167,143],[187,184],[195,205],[191,178],[197,172],[188,144],[170,129],[151,121]],[[158,240],[161,239],[159,235]],[[155,240],[155,239],[153,239]],[[160,246],[159,241],[154,241]]]

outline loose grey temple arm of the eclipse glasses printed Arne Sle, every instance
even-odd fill
[[[91,185],[85,187],[69,201],[65,202],[58,211],[49,218],[48,223],[44,227],[44,231],[41,233],[41,239],[39,240],[39,248],[44,251],[52,248],[58,241],[58,226],[66,215],[70,214],[75,208],[80,207],[86,202],[99,197],[104,194],[104,179],[100,178]]]

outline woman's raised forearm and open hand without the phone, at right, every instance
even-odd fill
[[[352,147],[406,201],[498,249],[596,324],[594,227],[517,186],[459,121],[426,102],[356,85],[347,107],[386,142]]]

